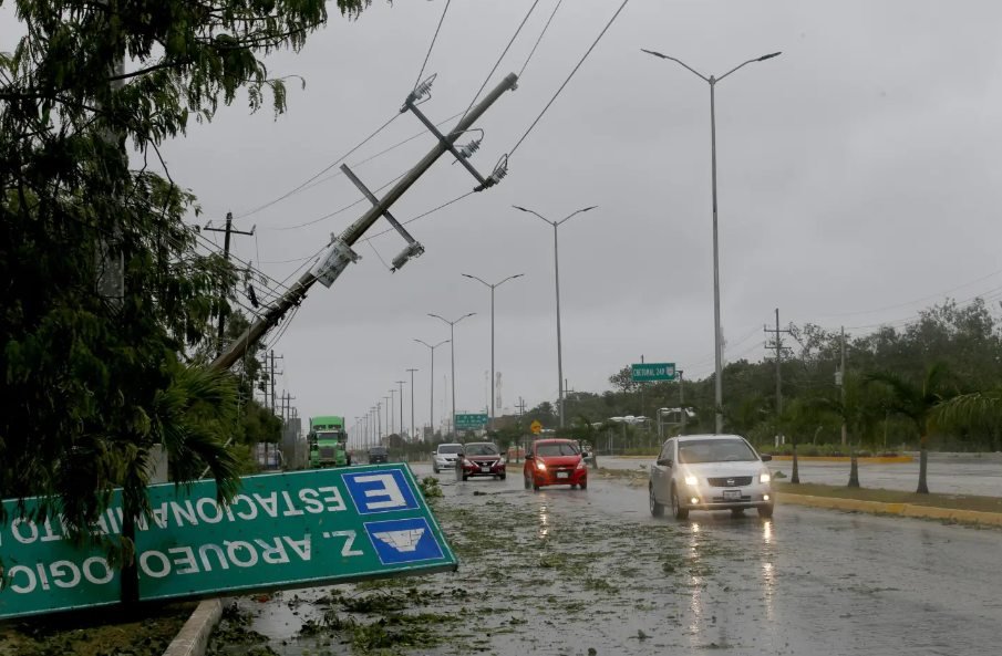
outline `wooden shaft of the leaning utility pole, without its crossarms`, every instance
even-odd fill
[[[328,247],[328,251],[321,256],[317,264],[303,273],[292,287],[269,306],[261,317],[240,335],[234,344],[226,348],[210,365],[214,369],[228,369],[231,367],[250,347],[257,343],[261,336],[277,324],[285,314],[302,302],[307,292],[314,282],[321,280],[330,287],[333,280],[341,271],[352,261],[357,261],[359,256],[351,250],[351,247],[358,242],[365,231],[383,216],[383,212],[390,209],[394,202],[400,200],[401,196],[410,189],[414,183],[442,156],[448,150],[448,146],[454,144],[464,132],[466,132],[479,118],[487,108],[502,96],[506,91],[515,88],[518,76],[509,73],[502,82],[488,93],[483,101],[476,104],[465,116],[463,116],[456,126],[452,129],[444,140],[438,140],[435,146],[425,155],[410,171],[407,171],[397,183],[373,205],[365,214],[362,215],[354,223],[349,226],[340,237],[333,238]],[[409,100],[413,102],[413,100]],[[497,174],[495,174],[497,175]],[[323,278],[326,280],[322,280]]]

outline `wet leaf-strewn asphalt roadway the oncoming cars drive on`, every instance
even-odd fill
[[[427,595],[414,612],[433,607],[448,639],[402,653],[1002,650],[998,529],[783,506],[772,521],[693,512],[678,522],[652,518],[645,488],[618,479],[531,492],[517,473],[437,478],[436,514],[461,570],[395,583]],[[337,637],[323,648],[293,639],[331,591],[361,594],[335,586],[298,591],[297,604],[292,593],[241,604],[279,654],[349,654]]]

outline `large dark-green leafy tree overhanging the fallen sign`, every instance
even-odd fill
[[[354,17],[368,3],[337,7]],[[225,500],[234,379],[189,361],[238,277],[197,248],[195,196],[159,146],[240,94],[281,113],[285,83],[264,58],[300,49],[326,3],[14,4],[22,37],[0,53],[0,491],[41,496],[86,537],[117,486],[125,517],[143,514],[159,444],[178,480],[208,466]],[[99,284],[109,269],[124,283],[114,293]]]

